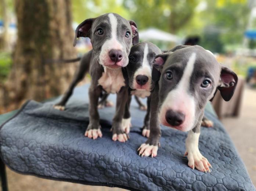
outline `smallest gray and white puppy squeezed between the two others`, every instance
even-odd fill
[[[123,128],[128,133],[130,131],[130,112],[129,105],[131,95],[145,98],[147,97],[147,113],[144,119],[144,126],[142,134],[149,137],[149,113],[150,100],[152,90],[152,68],[153,60],[156,55],[161,54],[162,51],[151,42],[140,42],[131,48],[129,55],[129,64],[126,67],[128,81],[129,81],[129,101],[126,105],[125,115],[123,118]]]

